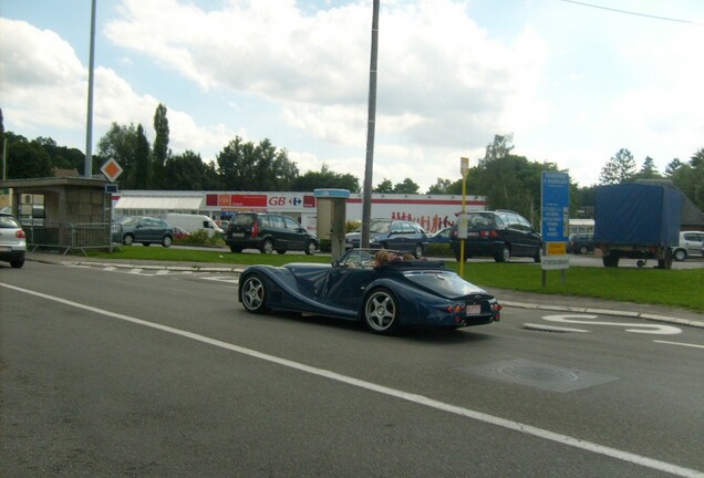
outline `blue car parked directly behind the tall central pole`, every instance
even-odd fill
[[[408,252],[420,259],[427,248],[427,236],[420,224],[398,219],[371,219],[369,227],[370,248],[393,249]],[[362,229],[344,237],[345,249],[360,248]]]

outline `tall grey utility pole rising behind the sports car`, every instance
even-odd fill
[[[379,2],[374,0],[372,14],[372,59],[369,71],[369,121],[366,124],[366,164],[362,195],[362,238],[360,247],[369,247],[372,217],[372,178],[374,172],[374,126],[376,123],[376,56],[379,52]]]

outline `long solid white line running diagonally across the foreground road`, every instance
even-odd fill
[[[460,406],[452,405],[448,403],[439,402],[433,398],[425,397],[423,395],[416,395],[407,392],[403,392],[396,388],[391,388],[384,385],[379,385],[372,382],[366,382],[363,380],[354,378],[348,375],[342,375],[335,372],[331,372],[324,368],[318,368],[310,365],[306,365],[302,363],[293,362],[288,358],[278,357],[275,355],[269,355],[266,353],[257,352],[251,349],[241,347],[239,345],[234,345],[227,342],[221,342],[216,339],[210,339],[205,335],[195,334],[193,332],[184,331],[180,329],[170,328],[168,325],[156,324],[153,322],[147,322],[142,319],[136,319],[130,315],[124,315],[115,312],[111,312],[104,309],[94,308],[92,305],[85,305],[79,302],[73,302],[66,299],[62,299],[54,295],[49,295],[42,292],[32,291],[29,289],[22,289],[15,285],[4,284],[0,282],[1,287],[12,289],[18,292],[27,293],[30,295],[34,295],[38,298],[42,298],[45,300],[54,301],[62,303],[64,305],[73,306],[76,309],[83,309],[96,314],[105,315],[113,319],[123,320],[125,322],[131,322],[137,325],[143,325],[146,328],[159,330],[163,332],[167,332],[174,335],[179,335],[186,339],[195,340],[201,343],[206,343],[213,346],[217,346],[220,349],[229,350],[231,352],[237,352],[244,355],[248,355],[255,358],[259,358],[262,361],[267,361],[270,363],[275,363],[278,365],[282,365],[289,368],[293,368],[300,372],[306,372],[312,375],[318,375],[324,378],[329,378],[332,381],[341,382],[348,385],[352,385],[359,388],[364,388],[371,392],[376,392],[383,395],[392,396],[395,398],[400,398],[406,402],[411,402],[417,405],[423,405],[429,408],[435,408],[438,411],[447,412],[451,414],[464,416],[467,418],[472,418],[478,422],[483,422],[486,424],[495,425],[498,427],[507,428],[514,432],[519,432],[526,435],[535,436],[538,438],[556,441],[561,445],[567,445],[573,448],[579,448],[587,451],[592,451],[599,455],[604,455],[611,458],[620,459],[622,461],[632,463],[645,468],[651,468],[659,471],[669,472],[671,475],[676,475],[686,478],[704,478],[704,471],[698,471],[691,468],[681,467],[674,464],[670,464],[666,461],[658,460],[654,458],[649,458],[642,455],[632,454],[629,451],[623,451],[617,448],[608,447],[604,445],[599,445],[593,441],[582,440],[580,438],[574,438],[569,435],[562,435],[555,432],[550,432],[547,429],[538,428],[531,425],[521,424],[520,422],[514,422],[510,419],[497,417],[494,415],[485,414],[482,412],[473,411],[469,408],[464,408]]]

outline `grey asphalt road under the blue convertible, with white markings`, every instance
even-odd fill
[[[384,337],[247,314],[236,280],[0,266],[0,476],[704,476],[704,330]]]

